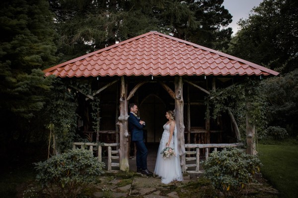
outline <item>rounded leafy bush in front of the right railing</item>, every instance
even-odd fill
[[[238,148],[216,151],[203,162],[204,175],[211,180],[218,194],[237,197],[242,189],[254,182],[253,175],[260,171],[260,160],[255,155],[244,153]]]

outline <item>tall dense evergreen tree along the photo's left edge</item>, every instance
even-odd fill
[[[0,139],[8,149],[38,131],[31,124],[51,88],[51,78],[40,69],[57,62],[56,34],[46,1],[9,0],[0,6]]]

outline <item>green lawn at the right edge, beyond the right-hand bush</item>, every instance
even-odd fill
[[[281,192],[281,198],[298,198],[298,141],[258,144],[264,178]]]

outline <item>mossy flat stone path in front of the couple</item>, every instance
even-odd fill
[[[172,182],[167,185],[160,182],[160,178],[153,176],[146,176],[140,173],[122,173],[119,177],[117,172],[100,177],[100,182],[95,185],[95,191],[93,191],[94,198],[179,198],[179,195],[184,194],[183,198],[195,197],[208,197],[204,194],[198,194],[198,190],[192,189],[189,186],[194,184],[194,188],[199,186],[195,184],[198,180],[197,175],[189,175],[183,178],[182,182]],[[203,185],[204,186],[204,185]],[[210,186],[205,186],[203,189],[211,189]],[[194,191],[192,191],[194,190]],[[196,192],[196,193],[195,193]],[[278,198],[278,191],[264,184],[251,185],[248,194],[253,197],[258,197],[256,194],[264,192],[261,195],[262,198]],[[205,195],[205,196],[204,196]],[[255,196],[254,196],[255,195]],[[182,198],[180,197],[180,198]]]

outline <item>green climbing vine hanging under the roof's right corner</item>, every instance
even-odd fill
[[[209,96],[209,117],[216,119],[230,110],[239,125],[240,131],[244,132],[246,130],[245,104],[249,102],[252,107],[249,111],[252,115],[250,122],[255,124],[258,131],[264,131],[267,125],[267,103],[265,96],[260,92],[259,83],[260,80],[247,77],[242,83],[212,91]]]

